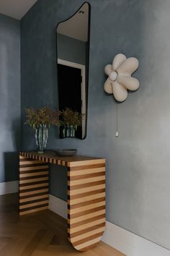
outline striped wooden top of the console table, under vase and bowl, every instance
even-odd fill
[[[59,156],[55,153],[55,151],[45,151],[45,153],[37,153],[35,151],[20,152],[19,156],[21,158],[30,158],[37,161],[54,163],[67,167],[105,163],[104,158],[96,158],[84,155]]]

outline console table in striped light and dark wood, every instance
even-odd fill
[[[48,209],[48,163],[68,168],[68,240],[86,251],[102,238],[105,226],[105,159],[19,153],[19,215]]]

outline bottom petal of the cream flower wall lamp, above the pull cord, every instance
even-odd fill
[[[125,101],[125,99],[128,97],[127,89],[120,85],[120,83],[118,83],[117,81],[112,82],[112,91],[117,101]]]

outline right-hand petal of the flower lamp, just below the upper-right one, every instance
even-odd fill
[[[117,82],[123,85],[128,90],[137,90],[139,88],[139,81],[134,77],[118,76]]]

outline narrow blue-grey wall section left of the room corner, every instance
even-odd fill
[[[0,14],[0,182],[18,179],[20,25]]]

